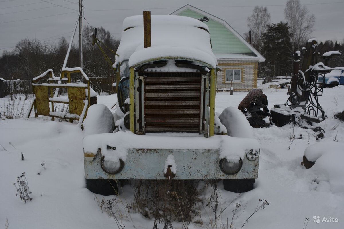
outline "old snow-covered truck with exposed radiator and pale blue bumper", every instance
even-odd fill
[[[259,143],[235,107],[215,113],[217,60],[208,26],[184,16],[123,21],[114,67],[116,113],[92,105],[84,121],[87,188],[116,193],[119,180],[223,180],[245,192],[258,177]],[[147,46],[147,45],[146,45]]]

